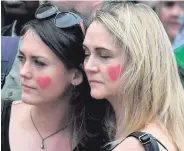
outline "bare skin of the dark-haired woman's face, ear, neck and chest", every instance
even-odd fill
[[[42,150],[41,138],[33,125],[31,114],[42,137],[70,123],[68,104],[71,91],[66,91],[69,85],[80,84],[82,75],[76,75],[75,69],[67,70],[31,30],[21,41],[19,59],[22,100],[12,105],[10,147],[15,151]],[[45,147],[46,151],[71,151],[70,125],[46,139]]]

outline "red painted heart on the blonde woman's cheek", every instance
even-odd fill
[[[109,77],[111,78],[112,81],[116,81],[117,78],[119,77],[120,75],[120,72],[121,72],[121,66],[120,65],[117,65],[117,66],[109,66],[107,68],[108,70],[108,75]]]

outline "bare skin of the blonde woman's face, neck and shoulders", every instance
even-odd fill
[[[123,74],[124,68],[126,67],[124,65],[126,63],[122,63],[126,62],[122,61],[123,49],[113,42],[112,35],[108,30],[96,21],[92,22],[87,29],[83,45],[86,54],[84,69],[90,83],[91,96],[96,99],[107,99],[114,108],[115,116],[118,119],[121,109],[118,108],[119,105],[116,103],[116,88],[118,87],[118,78]],[[119,70],[118,65],[121,67],[121,70]],[[112,67],[112,73],[114,73],[113,78],[112,73],[110,74],[109,72],[109,68]],[[152,134],[155,138],[160,140],[168,150],[176,151],[167,130],[163,129],[158,121],[155,120],[149,123],[140,131]],[[144,151],[144,148],[137,139],[129,137],[113,151],[127,150]],[[164,149],[160,147],[160,150]]]

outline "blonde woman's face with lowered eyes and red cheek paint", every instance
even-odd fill
[[[83,47],[86,55],[84,69],[91,96],[113,100],[117,92],[117,80],[123,70],[122,48],[114,44],[108,30],[97,22],[89,26]]]

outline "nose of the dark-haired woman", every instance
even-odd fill
[[[20,74],[20,77],[23,79],[31,79],[32,78],[31,67],[30,67],[29,63],[27,63],[27,62],[25,62],[24,64],[20,63],[19,74]]]

